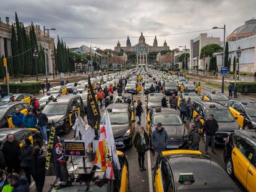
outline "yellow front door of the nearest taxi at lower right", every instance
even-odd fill
[[[250,162],[245,157],[246,141],[241,136],[234,136],[234,148],[232,150],[232,161],[234,167],[234,175],[246,188],[247,171],[250,166]]]

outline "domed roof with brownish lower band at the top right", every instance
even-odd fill
[[[256,19],[250,19],[241,27],[236,28],[227,38],[228,41],[237,41],[256,35]]]

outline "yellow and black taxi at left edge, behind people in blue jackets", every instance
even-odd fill
[[[24,115],[27,115],[30,105],[27,102],[0,102],[0,128],[14,128],[12,123],[12,114],[15,109],[19,109]]]

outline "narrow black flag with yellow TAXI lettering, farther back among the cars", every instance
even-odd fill
[[[90,80],[90,75],[88,77],[88,95],[87,95],[87,121],[88,124],[95,130],[100,128],[100,109],[98,102],[95,98],[95,93],[93,91],[93,86]]]

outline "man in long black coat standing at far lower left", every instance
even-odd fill
[[[11,133],[6,136],[6,141],[2,146],[2,153],[6,158],[7,173],[19,173],[20,172],[20,145],[18,141],[14,139],[14,135]]]

